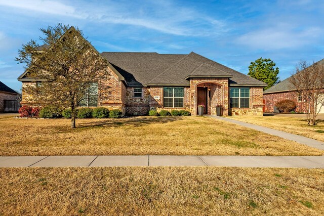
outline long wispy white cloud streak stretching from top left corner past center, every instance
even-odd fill
[[[109,7],[96,7],[88,5],[88,3],[72,6],[51,0],[0,0],[0,5],[20,9],[24,13],[29,11],[91,20],[97,23],[132,25],[181,36],[210,36],[211,34],[219,34],[222,29],[225,29],[224,22],[189,8],[175,7],[169,1],[147,4],[150,7],[143,10],[141,8],[140,10],[133,10],[133,5],[128,2],[111,3]],[[33,13],[30,13],[30,15],[33,16]],[[204,27],[199,28],[201,25],[204,25]]]

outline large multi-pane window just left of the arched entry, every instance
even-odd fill
[[[183,87],[165,87],[163,89],[164,107],[183,107],[183,97]]]

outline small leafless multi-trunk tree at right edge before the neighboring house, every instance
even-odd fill
[[[293,90],[296,90],[306,106],[306,119],[308,125],[316,124],[316,116],[324,103],[324,64],[321,62],[308,65],[300,62],[290,82]]]

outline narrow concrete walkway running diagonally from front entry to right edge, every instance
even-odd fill
[[[324,142],[321,142],[321,141],[313,140],[313,139],[310,139],[310,138],[307,138],[307,137],[302,137],[302,136],[295,135],[295,134],[290,134],[290,133],[283,132],[283,131],[278,131],[276,129],[272,129],[272,128],[269,128],[269,127],[264,127],[264,126],[259,126],[259,125],[256,125],[256,124],[251,124],[251,123],[246,123],[246,122],[243,122],[243,121],[234,120],[234,119],[231,119],[231,118],[225,118],[225,117],[220,117],[220,116],[216,116],[216,115],[211,115],[211,117],[219,119],[219,120],[235,123],[235,124],[238,124],[238,125],[241,125],[241,126],[249,127],[249,128],[255,129],[257,131],[261,131],[261,132],[264,132],[264,133],[267,133],[267,134],[282,137],[282,138],[287,139],[287,140],[292,140],[292,141],[295,141],[297,143],[301,143],[301,144],[304,144],[304,145],[307,145],[307,146],[310,146],[310,147],[313,147],[313,148],[324,150]]]

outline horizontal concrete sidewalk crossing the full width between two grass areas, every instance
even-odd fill
[[[0,167],[236,166],[324,168],[324,156],[0,156]]]

